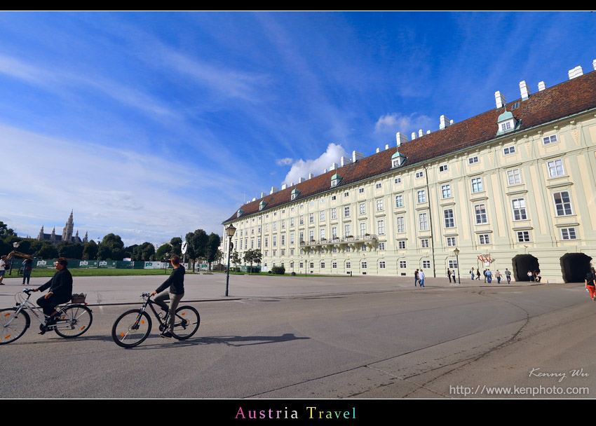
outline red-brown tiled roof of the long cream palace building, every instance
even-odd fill
[[[520,102],[520,107],[511,110],[515,102]],[[596,71],[592,71],[581,77],[557,84],[552,88],[532,93],[529,99],[522,101],[517,99],[507,104],[507,111],[511,111],[517,121],[521,121],[520,128],[515,132],[508,132],[506,135],[517,134],[537,125],[555,121],[559,118],[572,116],[596,108]],[[466,149],[471,146],[488,142],[496,138],[498,130],[496,121],[503,109],[491,109],[478,116],[468,118],[460,123],[443,130],[432,132],[400,146],[400,153],[407,158],[403,167],[415,165],[432,158]],[[290,201],[304,200],[323,193],[331,189],[331,177],[338,173],[343,179],[335,188],[348,186],[357,181],[374,177],[379,174],[391,171],[391,156],[397,151],[397,147],[386,149],[372,156],[358,160],[331,170],[325,174],[308,179],[297,185],[285,188],[273,194],[266,195],[264,198],[248,202],[242,205],[244,213],[241,217],[247,217],[250,214],[259,212],[259,202],[264,200],[267,205],[262,210],[270,210],[287,204]],[[298,188],[300,194],[294,200],[290,200],[290,193],[293,188]],[[233,214],[224,223],[235,221],[236,213]]]

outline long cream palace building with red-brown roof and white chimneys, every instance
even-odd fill
[[[583,282],[596,254],[596,71],[520,91],[262,193],[223,222],[237,228],[234,250],[296,273],[440,277],[459,259],[467,278],[508,268],[515,280],[539,270],[542,282]]]

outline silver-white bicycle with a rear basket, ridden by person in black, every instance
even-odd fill
[[[50,318],[29,301],[32,293],[33,289],[22,289],[15,294],[14,308],[0,309],[0,345],[14,342],[25,334],[31,325],[31,316],[27,312],[39,321],[41,334],[53,330],[58,336],[73,338],[81,336],[91,326],[93,315],[86,306],[84,295],[75,294],[72,298],[75,303],[56,306],[58,315]]]

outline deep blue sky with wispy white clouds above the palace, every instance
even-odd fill
[[[221,223],[596,59],[559,13],[0,13],[0,220],[126,245]]]

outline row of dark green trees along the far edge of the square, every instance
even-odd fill
[[[91,240],[85,244],[60,241],[53,245],[49,241],[39,241],[33,238],[20,238],[13,229],[0,221],[0,254],[8,254],[13,251],[13,243],[18,242],[18,252],[32,254],[42,259],[55,259],[66,257],[67,259],[83,260],[112,260],[121,261],[131,259],[133,261],[162,261],[168,256],[177,254],[182,257],[182,238],[174,237],[169,243],[163,244],[158,249],[151,242],[143,242],[140,245],[133,244],[125,247],[120,235],[109,233],[97,244]],[[219,235],[211,233],[207,235],[202,229],[187,233],[186,258],[194,261],[205,261],[211,265],[212,262],[222,259],[222,252],[219,251],[221,242]]]

